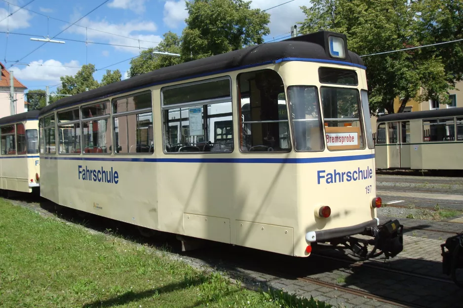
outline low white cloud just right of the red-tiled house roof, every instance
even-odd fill
[[[55,83],[60,82],[61,76],[75,75],[79,69],[80,64],[77,60],[62,64],[53,59],[32,61],[25,68],[11,68],[19,80],[47,80]]]

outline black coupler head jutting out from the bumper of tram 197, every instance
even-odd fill
[[[397,219],[386,221],[378,227],[367,227],[362,234],[375,238],[373,251],[366,258],[378,256],[375,252],[379,250],[389,259],[403,250],[403,225]]]

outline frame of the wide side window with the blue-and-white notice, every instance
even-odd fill
[[[218,81],[218,80],[228,80],[229,81],[229,84],[230,84],[230,97],[222,97],[222,98],[216,98],[216,99],[207,99],[207,100],[200,100],[200,101],[192,101],[192,102],[187,102],[187,103],[177,103],[177,104],[168,104],[168,105],[164,105],[164,90],[170,90],[170,89],[175,89],[175,88],[182,88],[182,87],[187,87],[187,86],[191,86],[191,85],[195,85],[195,84],[202,84],[202,83],[210,83],[210,82],[214,82],[214,81]],[[232,77],[230,75],[225,75],[225,76],[219,76],[219,77],[214,77],[214,78],[208,78],[208,79],[203,79],[203,80],[197,80],[197,81],[192,81],[192,82],[186,82],[186,83],[181,83],[181,84],[176,84],[176,85],[173,85],[173,86],[165,86],[165,87],[162,87],[160,89],[160,99],[161,99],[161,103],[160,103],[160,106],[161,106],[161,126],[162,126],[162,152],[164,154],[174,154],[174,155],[181,155],[181,154],[184,154],[184,155],[195,155],[195,154],[231,154],[234,152],[235,150],[235,144],[234,144],[234,138],[235,138],[235,127],[234,127],[234,120],[233,120],[233,80],[232,80]],[[167,127],[167,130],[166,130],[166,126],[165,126],[165,123],[169,123],[169,119],[166,119],[165,118],[165,114],[166,114],[166,110],[167,110],[167,114],[168,114],[168,110],[171,110],[171,109],[179,109],[180,111],[180,123],[179,123],[179,126],[177,126],[177,130],[180,130],[180,134],[182,132],[182,129],[183,129],[183,125],[182,125],[182,109],[185,109],[185,108],[190,108],[190,107],[197,107],[197,106],[200,106],[201,109],[202,109],[202,113],[204,114],[204,109],[207,109],[207,106],[208,105],[213,105],[213,104],[219,104],[219,103],[231,103],[231,106],[232,106],[232,111],[231,112],[227,112],[227,113],[219,113],[219,114],[214,114],[212,116],[209,116],[208,118],[204,118],[203,117],[203,125],[204,125],[204,122],[207,120],[207,119],[210,119],[210,118],[219,118],[219,117],[225,117],[225,116],[231,116],[232,117],[232,150],[229,151],[229,152],[205,152],[205,151],[202,151],[202,152],[167,152],[166,151],[166,140],[167,140],[167,130],[169,129],[169,127]],[[204,108],[204,106],[206,106],[206,108]],[[221,116],[219,116],[221,115]],[[226,120],[226,121],[229,121],[229,120]],[[154,122],[154,121],[153,121]],[[178,131],[177,131],[178,133]],[[178,140],[177,140],[178,141]]]

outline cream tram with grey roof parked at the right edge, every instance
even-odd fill
[[[375,143],[377,169],[463,170],[463,108],[381,116]]]

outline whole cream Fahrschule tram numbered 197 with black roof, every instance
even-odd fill
[[[158,69],[40,112],[41,196],[137,226],[292,256],[394,256],[379,224],[365,67],[319,32]],[[70,128],[72,146],[54,144]],[[64,141],[59,141],[64,142]],[[98,151],[77,151],[79,148]],[[386,231],[385,231],[386,230]],[[370,235],[370,241],[348,236]]]

